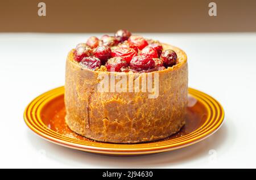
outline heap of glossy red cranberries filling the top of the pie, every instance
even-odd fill
[[[108,71],[115,72],[163,70],[177,63],[174,50],[163,51],[159,41],[145,40],[125,29],[114,36],[89,37],[86,43],[76,46],[74,57],[90,70],[105,65]]]

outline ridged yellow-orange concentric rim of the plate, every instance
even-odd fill
[[[64,87],[52,89],[51,91],[43,93],[31,101],[24,111],[24,121],[32,131],[44,139],[56,144],[64,145],[65,147],[79,149],[81,151],[112,155],[140,155],[171,151],[186,147],[207,138],[209,135],[216,132],[218,128],[220,128],[224,120],[224,109],[217,100],[193,88],[188,88],[188,93],[205,106],[208,112],[207,119],[205,120],[205,123],[195,131],[176,139],[167,139],[139,144],[114,144],[91,142],[63,136],[44,125],[42,119],[40,118],[40,114],[43,107],[48,104],[49,101],[64,95]]]

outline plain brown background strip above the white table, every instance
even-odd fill
[[[38,3],[46,3],[46,17]],[[208,15],[209,2],[217,16]],[[256,1],[0,1],[0,32],[256,32]]]

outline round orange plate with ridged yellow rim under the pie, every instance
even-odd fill
[[[180,132],[155,142],[114,144],[97,142],[69,130],[65,124],[64,87],[36,97],[27,106],[24,120],[36,134],[50,142],[81,151],[105,155],[144,155],[166,152],[195,144],[218,130],[224,119],[220,103],[209,95],[189,88],[186,123]]]

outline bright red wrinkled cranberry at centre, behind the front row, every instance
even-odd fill
[[[125,59],[127,63],[130,63],[131,58],[138,55],[134,49],[131,48],[117,48],[112,52],[112,57],[121,57]]]

